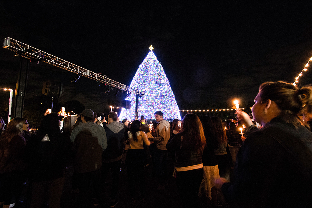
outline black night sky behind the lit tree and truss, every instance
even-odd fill
[[[0,38],[11,37],[128,86],[153,45],[180,109],[217,102],[230,108],[234,98],[253,101],[262,82],[294,82],[312,56],[310,7],[295,1],[10,1],[0,9]],[[0,48],[0,87],[15,89],[19,58],[13,54]],[[301,85],[312,83],[311,71],[300,78]],[[100,111],[111,95],[85,77],[72,84],[73,75],[33,62],[27,97],[40,94],[42,83],[52,79],[65,83],[62,101],[76,99]]]

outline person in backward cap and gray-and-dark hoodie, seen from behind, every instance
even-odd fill
[[[73,142],[73,163],[79,186],[80,206],[86,207],[90,198],[88,187],[92,180],[94,197],[104,206],[101,187],[102,153],[107,147],[106,133],[102,126],[94,123],[94,112],[85,109],[81,114],[81,123],[71,132]],[[98,202],[95,202],[98,204]]]

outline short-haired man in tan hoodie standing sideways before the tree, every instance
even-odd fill
[[[158,122],[156,128],[156,137],[149,138],[149,141],[154,141],[156,144],[155,151],[155,166],[156,172],[159,179],[159,186],[157,190],[164,191],[165,185],[167,185],[168,174],[167,174],[167,159],[168,150],[166,148],[167,142],[170,138],[170,124],[169,121],[163,119],[163,112],[156,111],[155,119]]]

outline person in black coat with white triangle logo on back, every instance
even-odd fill
[[[27,144],[29,179],[31,181],[30,207],[41,207],[48,195],[49,207],[60,207],[65,181],[64,167],[69,153],[69,139],[61,133],[59,124],[64,116],[47,114]]]

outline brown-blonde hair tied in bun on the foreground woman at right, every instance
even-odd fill
[[[261,102],[270,99],[281,110],[280,117],[286,123],[299,126],[299,115],[312,110],[312,87],[299,88],[287,82],[264,82],[259,87]]]

